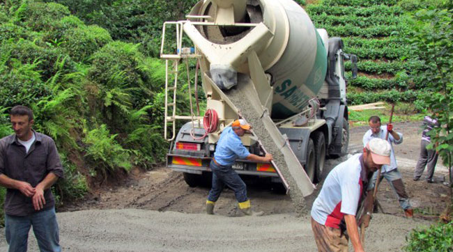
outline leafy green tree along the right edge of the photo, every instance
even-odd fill
[[[431,145],[449,167],[450,207],[453,202],[453,3],[445,1],[415,14],[417,26],[413,33],[413,60],[422,64],[414,72],[427,86],[431,95],[424,97],[431,116],[442,127],[431,131]],[[427,92],[428,93],[428,92]]]

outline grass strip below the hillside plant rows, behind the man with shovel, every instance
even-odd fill
[[[390,119],[392,105],[385,104],[385,109],[364,109],[361,111],[349,111],[349,122],[351,126],[362,126],[368,124],[370,116],[379,116],[382,124],[386,124]],[[392,117],[393,123],[423,120],[423,113],[417,113],[413,104],[397,103],[394,107]]]

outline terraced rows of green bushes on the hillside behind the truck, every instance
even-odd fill
[[[359,77],[348,81],[349,104],[415,102],[429,94],[426,84],[411,77],[420,62],[407,60],[413,54],[408,36],[414,24],[408,14],[428,2],[324,0],[307,6],[317,28],[326,29],[330,37],[341,37],[344,52],[358,56]],[[345,68],[350,70],[351,63]],[[424,102],[415,105],[418,111],[427,108]]]

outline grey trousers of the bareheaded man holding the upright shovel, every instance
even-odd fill
[[[376,180],[378,178],[378,171],[376,171],[373,174],[373,178],[371,178],[371,181],[369,182],[368,190],[374,188],[374,184],[376,184]],[[401,173],[399,173],[398,169],[393,169],[392,171],[387,171],[386,173],[381,173],[381,182],[385,178],[389,184],[390,187],[392,187],[393,191],[395,194],[397,194],[398,200],[399,200],[399,205],[403,210],[408,210],[412,208],[409,202],[409,196],[406,193],[406,189],[404,188],[403,184],[403,177],[401,177]]]

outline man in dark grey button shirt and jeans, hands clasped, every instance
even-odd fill
[[[55,200],[50,187],[63,177],[54,141],[35,132],[33,111],[13,107],[15,134],[0,139],[0,184],[7,188],[5,234],[8,251],[26,251],[33,226],[40,251],[61,251]]]

